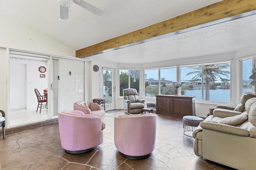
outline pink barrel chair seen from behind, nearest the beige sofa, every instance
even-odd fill
[[[152,154],[156,144],[156,119],[152,113],[114,118],[114,142],[122,156],[139,160]]]

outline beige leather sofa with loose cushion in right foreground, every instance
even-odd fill
[[[256,97],[245,111],[215,109],[193,131],[194,153],[236,169],[256,169]]]

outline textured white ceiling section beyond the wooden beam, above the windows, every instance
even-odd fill
[[[150,63],[256,48],[256,15],[94,55],[118,63]]]

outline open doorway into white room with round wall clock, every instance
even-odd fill
[[[10,83],[10,124],[9,127],[34,123],[48,119],[48,110],[36,112],[38,101],[34,89],[44,95],[48,86],[48,60],[10,53],[9,83]],[[40,72],[39,68],[46,68]]]

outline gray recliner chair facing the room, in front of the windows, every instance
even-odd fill
[[[142,113],[144,108],[143,99],[138,99],[138,93],[136,89],[123,89],[124,94],[124,110],[126,113],[139,114]]]

